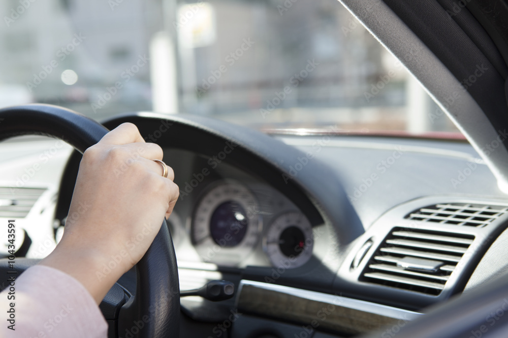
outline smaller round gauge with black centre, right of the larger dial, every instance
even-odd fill
[[[297,268],[312,256],[312,227],[298,211],[284,213],[272,222],[263,246],[275,267]]]

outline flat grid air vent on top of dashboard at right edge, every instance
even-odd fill
[[[471,203],[436,204],[416,210],[405,218],[424,222],[482,228],[508,211],[508,206]]]

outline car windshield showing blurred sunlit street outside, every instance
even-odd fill
[[[0,11],[2,107],[458,132],[336,0],[5,0]]]

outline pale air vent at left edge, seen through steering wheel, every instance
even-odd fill
[[[26,217],[46,189],[0,187],[0,217]]]

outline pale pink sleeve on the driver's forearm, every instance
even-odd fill
[[[14,294],[9,287],[0,293],[0,337],[107,336],[108,324],[94,299],[66,273],[36,265],[16,276]],[[13,295],[15,299],[8,298]],[[15,330],[8,328],[12,305]]]

